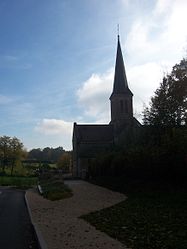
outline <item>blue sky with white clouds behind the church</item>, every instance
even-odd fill
[[[72,149],[109,123],[117,25],[134,116],[187,55],[186,0],[0,0],[0,136]]]

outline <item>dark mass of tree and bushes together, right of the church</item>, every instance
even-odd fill
[[[122,146],[92,160],[90,177],[186,181],[187,59],[163,78],[143,114],[138,133],[132,129]]]

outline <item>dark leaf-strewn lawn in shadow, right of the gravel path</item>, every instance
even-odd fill
[[[185,188],[128,184],[122,179],[103,183],[100,185],[121,189],[128,199],[82,218],[133,249],[187,248]]]

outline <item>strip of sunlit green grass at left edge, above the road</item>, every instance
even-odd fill
[[[37,184],[37,177],[0,176],[1,186],[13,186],[28,189]]]

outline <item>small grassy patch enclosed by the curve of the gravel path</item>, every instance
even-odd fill
[[[48,179],[40,181],[40,185],[43,196],[51,201],[69,198],[73,195],[71,189],[63,181]]]

